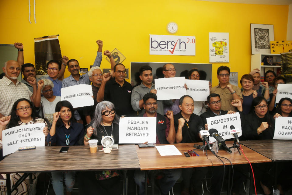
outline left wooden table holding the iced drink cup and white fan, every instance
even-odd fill
[[[7,173],[7,178],[10,178],[10,173],[140,168],[134,145],[119,145],[119,149],[112,150],[110,154],[105,154],[103,151],[92,154],[89,146],[70,146],[65,153],[60,153],[60,149],[61,146],[51,146],[16,151],[0,161],[0,173]],[[124,184],[126,185],[126,182]],[[10,179],[7,179],[7,186],[10,186]],[[10,194],[10,188],[7,188],[7,193]]]

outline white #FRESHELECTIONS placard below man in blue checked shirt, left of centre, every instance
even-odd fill
[[[92,106],[94,105],[92,87],[91,85],[80,84],[62,88],[61,100],[69,101],[73,108]]]

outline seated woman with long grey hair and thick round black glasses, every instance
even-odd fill
[[[95,116],[86,129],[84,137],[79,140],[79,144],[89,145],[89,140],[96,139],[100,145],[103,136],[112,136],[114,144],[118,144],[119,120],[113,103],[109,101],[98,103]],[[77,178],[80,194],[121,194],[122,192],[121,179],[115,170],[78,172]]]

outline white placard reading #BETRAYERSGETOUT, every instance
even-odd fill
[[[183,76],[155,79],[157,100],[179,99],[186,95],[185,81],[186,78]]]

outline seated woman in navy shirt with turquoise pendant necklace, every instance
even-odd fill
[[[78,140],[84,135],[84,127],[72,117],[72,105],[68,101],[59,101],[55,111],[47,142],[56,143],[57,146],[77,145]],[[52,172],[52,184],[56,195],[64,194],[63,180],[67,194],[71,194],[75,184],[75,172]]]

